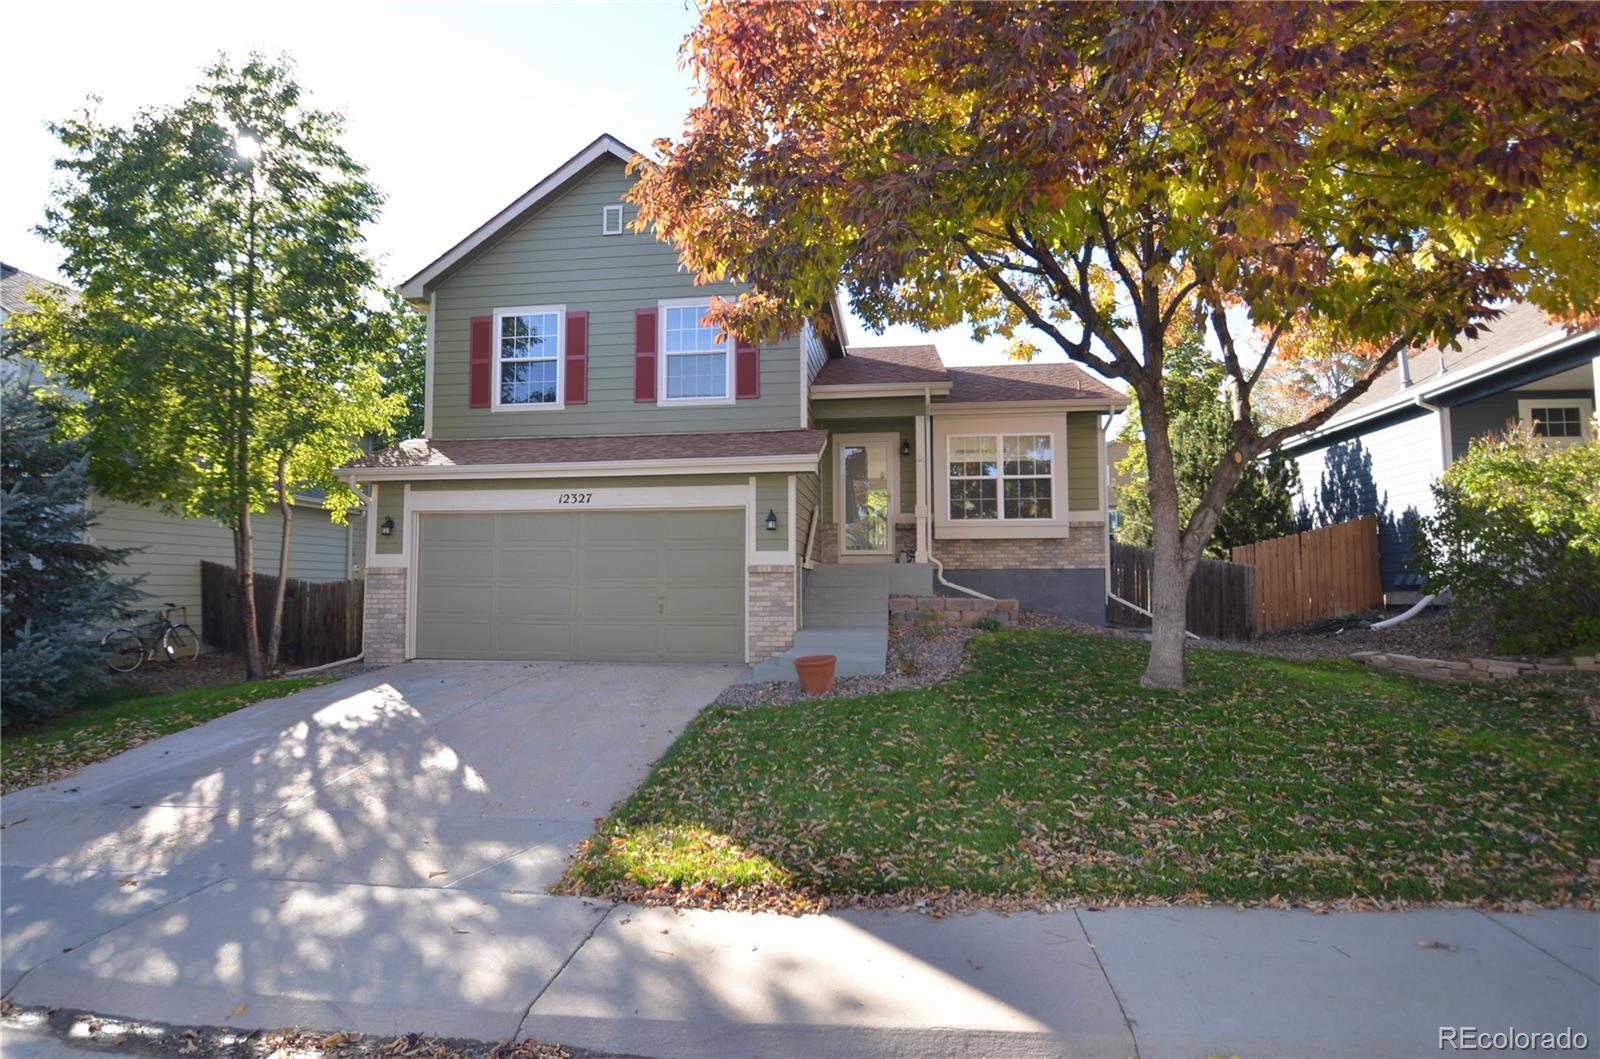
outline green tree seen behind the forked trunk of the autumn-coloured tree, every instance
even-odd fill
[[[1227,386],[1222,363],[1205,347],[1198,325],[1178,336],[1166,354],[1166,408],[1171,418],[1173,470],[1178,480],[1178,517],[1187,520],[1205,496],[1211,470],[1230,445]],[[1138,398],[1134,398],[1134,405]],[[1117,536],[1149,547],[1155,539],[1150,520],[1149,456],[1139,437],[1138,408],[1130,408],[1120,440],[1126,454],[1117,462]],[[1253,461],[1238,475],[1218,514],[1205,553],[1227,558],[1238,544],[1253,544],[1294,533],[1294,498],[1299,470],[1282,451]]]

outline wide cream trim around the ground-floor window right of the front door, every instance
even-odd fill
[[[933,470],[933,539],[1045,539],[1070,536],[1074,518],[1086,522],[1102,518],[1086,512],[1072,512],[1067,496],[1069,451],[1067,414],[934,414],[931,453],[944,453]],[[950,518],[950,438],[971,435],[1050,435],[1050,518]],[[1104,510],[1104,509],[1102,509]]]

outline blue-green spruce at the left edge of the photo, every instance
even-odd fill
[[[128,549],[86,541],[88,454],[22,371],[0,384],[0,720],[50,717],[101,680],[96,637],[138,598]]]

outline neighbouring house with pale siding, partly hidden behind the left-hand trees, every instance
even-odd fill
[[[27,290],[51,286],[50,280],[0,264],[0,326],[5,317],[29,307]],[[0,363],[6,374],[26,373],[43,381],[43,373],[27,357],[6,357]],[[104,496],[90,496],[90,507],[99,515],[90,530],[94,544],[138,549],[118,576],[142,577],[139,589],[146,609],[176,603],[187,608],[189,624],[202,627],[200,561],[234,565],[234,533],[205,518],[178,518],[154,507],[125,504]],[[290,576],[306,581],[344,581],[360,573],[366,539],[362,512],[352,512],[349,525],[338,525],[322,509],[315,493],[296,496],[294,528],[290,533]],[[277,506],[254,515],[256,571],[275,574],[282,515]]]

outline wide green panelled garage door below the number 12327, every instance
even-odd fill
[[[419,523],[418,657],[744,661],[741,512]]]

